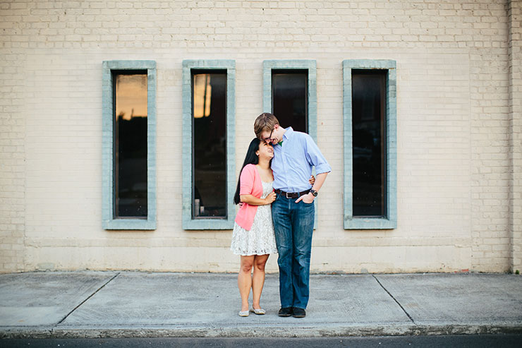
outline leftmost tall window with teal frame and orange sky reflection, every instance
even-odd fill
[[[156,228],[154,61],[103,62],[105,229]]]

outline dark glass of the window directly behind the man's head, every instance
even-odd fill
[[[308,70],[272,70],[272,113],[284,128],[308,133]]]

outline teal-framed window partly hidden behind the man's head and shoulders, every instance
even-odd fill
[[[316,63],[312,60],[263,61],[263,112],[286,128],[317,141]]]

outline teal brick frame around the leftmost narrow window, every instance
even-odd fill
[[[102,220],[104,229],[156,229],[156,62],[103,61]],[[147,219],[114,218],[114,83],[112,71],[147,71]]]

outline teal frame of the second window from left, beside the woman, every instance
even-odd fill
[[[226,218],[192,217],[192,70],[226,70]],[[236,61],[232,59],[183,61],[183,229],[233,229],[236,209]]]

